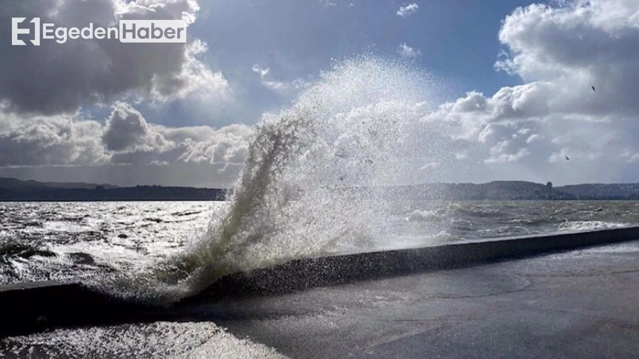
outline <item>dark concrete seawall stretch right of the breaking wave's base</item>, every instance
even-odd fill
[[[299,259],[224,277],[185,302],[281,293],[629,240],[639,240],[639,227],[456,241],[431,247]]]

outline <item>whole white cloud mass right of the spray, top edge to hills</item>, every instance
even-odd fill
[[[624,163],[639,153],[630,135],[639,130],[639,48],[631,45],[639,43],[637,14],[639,3],[624,0],[514,10],[499,32],[506,50],[495,68],[523,84],[492,96],[471,91],[424,123],[439,122],[477,162],[500,164],[511,176],[630,179]]]

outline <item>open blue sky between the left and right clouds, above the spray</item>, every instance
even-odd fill
[[[213,49],[204,61],[224,72],[241,103],[241,109],[217,109],[214,125],[235,123],[238,118],[256,123],[263,111],[291,101],[291,96],[279,96],[260,86],[252,71],[255,64],[269,68],[273,79],[291,82],[329,70],[335,59],[362,53],[397,57],[402,43],[420,50],[422,55],[409,62],[436,78],[440,84],[434,91],[442,101],[471,90],[491,95],[503,86],[521,83],[518,76],[497,72],[493,65],[503,48],[497,36],[501,20],[530,1],[417,1],[410,3],[419,10],[407,17],[396,13],[410,3],[333,3],[216,0],[201,4],[190,34]],[[180,118],[182,125],[212,124],[209,116],[194,113],[181,103],[146,111],[154,112],[158,123],[171,124]]]

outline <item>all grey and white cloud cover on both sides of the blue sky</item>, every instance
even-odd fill
[[[418,9],[403,4],[386,16],[410,22],[422,15]],[[118,19],[179,19],[181,11],[194,13],[196,26],[205,20],[196,0],[29,0],[3,6],[0,22],[19,14],[68,27],[108,26]],[[170,113],[171,106],[210,113],[211,106],[252,104],[239,100],[249,92],[231,79],[235,69],[207,61],[215,57],[212,45],[191,36],[187,44],[82,40],[10,47],[10,33],[0,34],[0,61],[12,69],[0,74],[0,176],[211,187],[226,187],[237,176],[259,116],[184,125],[148,115]],[[530,4],[513,9],[497,35],[503,50],[495,54],[495,71],[521,83],[420,108],[415,118],[424,154],[442,149],[415,164],[424,178],[636,181],[639,3]],[[407,43],[415,41],[394,42],[397,57],[427,61],[426,47]],[[243,66],[246,81],[266,94],[249,101],[271,103],[262,112],[277,112],[304,88],[273,71],[277,61],[246,61],[252,64]]]

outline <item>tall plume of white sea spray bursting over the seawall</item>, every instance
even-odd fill
[[[155,268],[156,293],[176,300],[229,273],[374,248],[392,206],[385,186],[423,175],[427,86],[409,66],[362,57],[263,115],[226,208]]]

